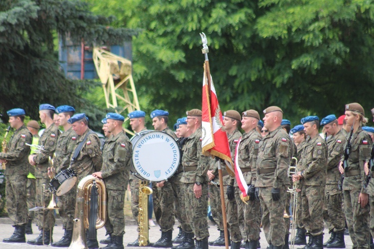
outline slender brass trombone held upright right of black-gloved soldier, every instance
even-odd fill
[[[296,175],[297,174],[297,163],[298,163],[298,160],[296,157],[292,157],[291,158],[291,163],[290,163],[290,166],[288,167],[288,176],[290,178],[292,178],[293,175]],[[297,209],[297,185],[298,185],[298,182],[293,182],[292,184],[292,188],[290,187],[287,187],[287,192],[288,193],[291,193],[291,195],[293,195],[293,204],[292,204],[292,228],[291,228],[291,249],[294,249],[295,248],[295,230],[296,230],[296,219],[297,219],[297,212],[296,212],[296,209]]]

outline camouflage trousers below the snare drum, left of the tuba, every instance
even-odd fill
[[[58,213],[61,216],[62,228],[65,230],[73,230],[74,227],[76,195],[77,190],[76,186],[74,186],[69,192],[58,197]]]

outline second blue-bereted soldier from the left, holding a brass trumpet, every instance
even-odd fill
[[[39,139],[39,145],[43,146],[44,149],[40,151],[39,154],[32,154],[28,156],[28,161],[31,165],[35,166],[35,177],[36,177],[36,206],[43,207],[45,204],[48,205],[50,197],[46,196],[42,198],[42,195],[45,195],[43,192],[48,189],[49,186],[49,176],[48,176],[48,167],[49,162],[48,158],[53,156],[53,153],[56,149],[57,139],[60,135],[58,127],[53,123],[53,114],[56,109],[49,104],[42,104],[39,106],[39,117],[42,124],[45,124],[45,130]],[[41,200],[44,199],[44,203],[41,203]],[[46,206],[45,205],[45,206]],[[43,235],[44,235],[44,244],[49,245],[52,241],[49,238],[52,238],[53,227],[54,227],[54,215],[51,210],[40,210],[35,211],[35,218],[40,230],[40,235],[35,240],[28,240],[27,244],[31,245],[43,245]],[[44,222],[43,222],[44,219]]]

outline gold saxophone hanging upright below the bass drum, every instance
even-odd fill
[[[148,239],[148,198],[153,193],[153,190],[148,187],[148,182],[141,181],[139,187],[139,246],[145,247],[149,244]]]

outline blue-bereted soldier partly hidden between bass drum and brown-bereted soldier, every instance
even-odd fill
[[[185,150],[186,147],[186,141],[188,137],[192,134],[192,131],[187,127],[187,118],[181,118],[177,120],[178,126],[179,126],[179,134],[181,135],[181,138],[179,139],[180,146],[182,149],[182,153]],[[183,170],[182,170],[183,172]],[[181,174],[180,169],[177,170],[176,174]],[[179,195],[179,202],[180,202],[180,214],[181,214],[181,227],[182,227],[182,236],[178,239],[173,240],[173,243],[178,243],[178,240],[183,241],[180,243],[180,245],[176,247],[172,247],[172,249],[193,249],[194,248],[194,242],[193,242],[193,232],[192,228],[187,222],[187,213],[186,213],[186,196],[185,196],[185,184],[181,185],[181,192]]]

